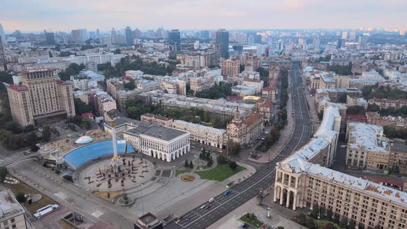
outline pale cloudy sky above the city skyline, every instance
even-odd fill
[[[6,32],[407,27],[406,0],[1,0]]]

